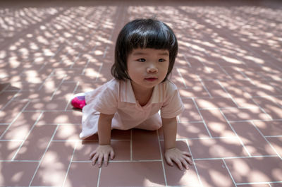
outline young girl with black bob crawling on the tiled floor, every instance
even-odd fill
[[[111,67],[114,79],[72,100],[73,107],[82,108],[80,138],[99,136],[99,146],[90,154],[92,164],[101,167],[103,160],[108,164],[109,156],[114,159],[111,129],[154,131],[161,126],[166,162],[171,166],[175,162],[181,170],[192,164],[190,154],[176,148],[176,116],[184,106],[168,75],[177,53],[176,36],[165,23],[137,19],[124,26]]]

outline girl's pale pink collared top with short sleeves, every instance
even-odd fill
[[[85,93],[86,106],[82,109],[82,132],[84,139],[97,133],[99,114],[114,114],[111,128],[128,130],[151,118],[161,110],[161,117],[178,116],[184,105],[176,85],[166,80],[154,87],[152,97],[143,107],[135,99],[130,80],[112,79],[99,88]]]

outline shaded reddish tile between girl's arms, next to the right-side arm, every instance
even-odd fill
[[[157,131],[133,129],[133,160],[161,159]]]

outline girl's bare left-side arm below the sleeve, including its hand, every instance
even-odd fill
[[[90,159],[92,159],[92,164],[98,162],[98,167],[102,166],[104,159],[104,164],[108,165],[109,155],[111,159],[114,159],[114,149],[111,147],[111,120],[114,114],[100,114],[98,121],[98,136],[99,136],[99,146],[91,152]]]

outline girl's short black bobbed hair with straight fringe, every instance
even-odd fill
[[[137,19],[127,23],[116,40],[115,61],[111,66],[111,75],[114,78],[130,79],[127,73],[127,59],[133,49],[137,48],[167,49],[169,66],[166,78],[168,77],[178,53],[176,35],[168,25],[154,19]]]

